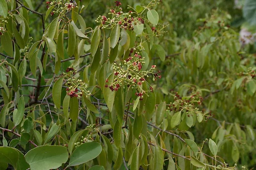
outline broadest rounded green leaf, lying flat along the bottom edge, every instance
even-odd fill
[[[56,169],[68,160],[68,151],[64,146],[43,145],[31,149],[25,159],[33,170]]]

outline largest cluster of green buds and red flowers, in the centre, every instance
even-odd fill
[[[114,82],[109,83],[108,79],[106,80],[105,87],[109,88],[111,91],[117,91],[123,85],[132,86],[132,88],[137,89],[138,92],[135,93],[136,96],[143,99],[143,94],[145,91],[142,89],[142,84],[145,82],[145,77],[149,77],[148,74],[153,75],[153,80],[157,78],[161,78],[161,75],[158,73],[153,73],[153,70],[156,69],[156,65],[152,65],[150,70],[143,71],[142,66],[145,64],[145,57],[141,57],[139,52],[134,52],[135,48],[130,49],[129,57],[124,60],[122,63],[117,65],[114,63]],[[156,76],[157,75],[157,76]],[[151,92],[153,92],[153,88],[149,88]]]

